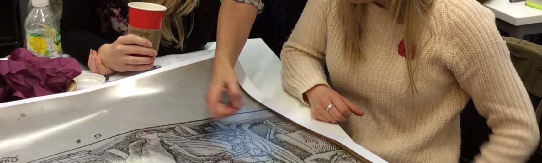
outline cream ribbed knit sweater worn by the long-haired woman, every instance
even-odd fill
[[[540,138],[533,108],[491,11],[474,0],[436,0],[412,62],[413,95],[398,54],[401,24],[367,3],[363,59],[348,69],[335,1],[309,0],[285,44],[288,93],[303,101],[316,84],[337,90],[365,111],[343,125],[346,132],[390,162],[457,162],[459,115],[470,97],[493,129],[475,162],[524,162],[532,154]]]

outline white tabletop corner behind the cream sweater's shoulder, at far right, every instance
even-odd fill
[[[525,1],[491,0],[484,3],[495,13],[495,17],[512,25],[542,23],[542,10],[525,5]]]

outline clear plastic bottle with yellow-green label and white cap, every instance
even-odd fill
[[[37,56],[60,57],[60,21],[49,9],[49,0],[32,0],[32,6],[24,23],[28,50]]]

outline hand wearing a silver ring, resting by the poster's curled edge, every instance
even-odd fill
[[[346,122],[350,115],[363,116],[363,111],[353,105],[345,97],[325,85],[317,85],[305,93],[311,105],[314,118],[330,123]],[[329,110],[328,106],[332,105]]]

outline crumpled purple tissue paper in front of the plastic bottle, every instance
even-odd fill
[[[0,102],[66,92],[67,84],[81,74],[74,58],[37,57],[24,48],[0,61]]]

